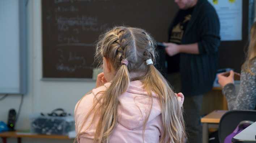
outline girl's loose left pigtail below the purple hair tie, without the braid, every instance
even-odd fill
[[[104,93],[101,106],[101,118],[96,127],[94,142],[108,142],[108,137],[115,128],[118,114],[118,96],[123,94],[129,86],[129,72],[126,65],[122,65],[116,73],[110,87]]]

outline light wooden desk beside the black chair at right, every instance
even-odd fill
[[[201,118],[202,123],[202,143],[209,142],[209,128],[218,128],[219,121],[222,115],[224,115],[227,110],[215,110],[210,114]]]

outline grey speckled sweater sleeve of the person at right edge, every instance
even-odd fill
[[[252,110],[256,101],[255,75],[242,71],[240,79],[240,90],[237,95],[233,83],[226,84],[222,93],[226,96],[229,110]]]

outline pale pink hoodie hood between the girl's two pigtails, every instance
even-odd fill
[[[111,83],[104,86],[108,88]],[[118,123],[129,130],[142,128],[146,117],[148,122],[161,114],[161,107],[157,95],[152,92],[153,103],[150,112],[151,97],[145,91],[139,80],[130,82],[127,92],[119,96]]]

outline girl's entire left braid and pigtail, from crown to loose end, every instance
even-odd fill
[[[109,142],[109,137],[115,128],[118,117],[119,96],[127,91],[130,77],[129,63],[125,57],[129,54],[127,49],[131,42],[127,40],[131,33],[126,28],[116,28],[107,33],[101,43],[100,55],[111,60],[111,64],[116,67],[116,74],[110,87],[103,93],[102,103],[99,108],[101,116],[96,127],[94,143]],[[107,48],[102,48],[103,46]]]

